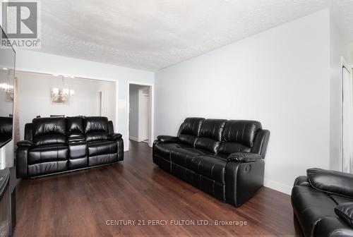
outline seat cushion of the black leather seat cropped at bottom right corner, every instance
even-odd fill
[[[328,216],[335,217],[337,204],[328,195],[311,186],[294,186],[292,206],[297,214],[304,236],[313,236],[316,224]]]

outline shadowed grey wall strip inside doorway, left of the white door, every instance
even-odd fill
[[[129,120],[129,136],[132,140],[138,140],[138,90],[140,85],[130,85],[130,120]]]

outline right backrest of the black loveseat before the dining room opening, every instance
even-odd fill
[[[107,140],[109,134],[107,117],[85,117],[83,119],[83,130],[86,141]]]

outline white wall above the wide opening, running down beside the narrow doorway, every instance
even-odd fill
[[[16,68],[19,71],[73,75],[76,78],[94,78],[116,81],[115,131],[123,135],[124,150],[128,148],[128,108],[126,107],[128,82],[154,83],[154,73],[133,68],[124,68],[104,63],[95,63],[37,51],[16,50]],[[83,104],[86,106],[86,104]]]

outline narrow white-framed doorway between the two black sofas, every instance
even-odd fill
[[[128,139],[152,143],[152,86],[128,85]]]

